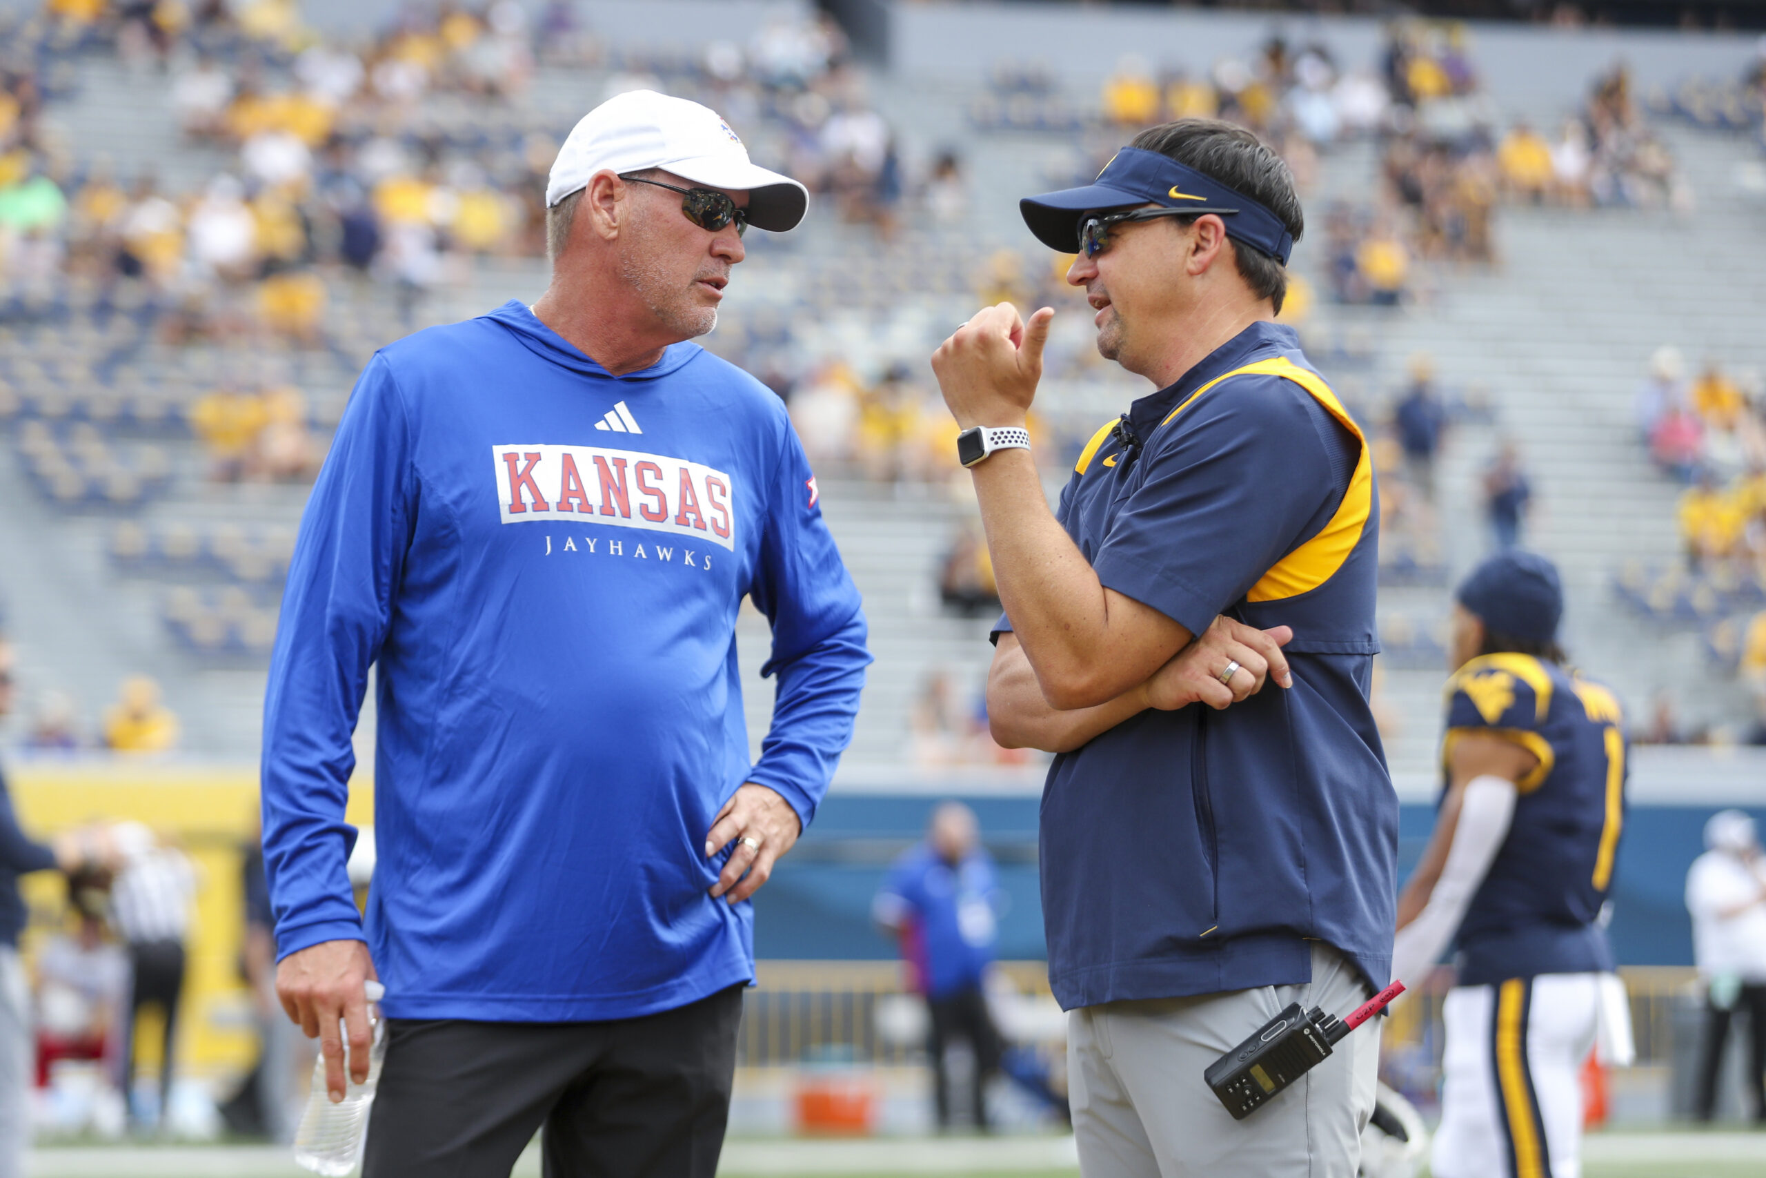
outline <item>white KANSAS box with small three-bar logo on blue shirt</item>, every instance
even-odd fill
[[[615,412],[630,420],[623,403]],[[638,424],[622,433],[639,433]],[[703,463],[597,445],[505,443],[491,447],[491,468],[503,523],[599,523],[736,547],[735,480]]]

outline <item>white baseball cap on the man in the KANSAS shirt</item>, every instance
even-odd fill
[[[666,168],[683,180],[749,194],[749,224],[784,233],[809,208],[809,189],[749,161],[749,150],[710,106],[655,90],[629,90],[583,115],[546,182],[546,207],[588,187],[597,171]]]

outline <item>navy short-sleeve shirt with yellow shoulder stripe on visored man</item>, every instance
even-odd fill
[[[1100,429],[1058,517],[1107,586],[1187,627],[1291,625],[1294,685],[1148,710],[1049,768],[1042,908],[1063,1008],[1310,980],[1385,985],[1397,795],[1369,708],[1379,503],[1291,328],[1254,323]],[[1008,620],[1000,629],[1010,629]]]

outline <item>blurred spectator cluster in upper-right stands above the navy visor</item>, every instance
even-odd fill
[[[1158,74],[1123,58],[1102,94],[1111,131],[1210,115],[1263,134],[1302,187],[1333,143],[1374,140],[1379,185],[1367,203],[1323,212],[1330,297],[1397,306],[1425,297],[1418,261],[1498,261],[1498,203],[1690,205],[1667,148],[1649,134],[1626,69],[1595,79],[1588,102],[1554,140],[1528,122],[1498,134],[1498,111],[1457,23],[1392,25],[1372,69],[1344,69],[1330,51],[1273,37],[1250,62],[1208,74]],[[1107,136],[1106,136],[1107,138]],[[1100,141],[1098,152],[1113,150]]]

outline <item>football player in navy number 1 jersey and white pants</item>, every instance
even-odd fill
[[[1422,978],[1457,934],[1436,1178],[1577,1178],[1579,1072],[1630,1024],[1602,908],[1625,823],[1625,717],[1565,666],[1563,588],[1503,551],[1457,593],[1446,789],[1399,899],[1393,975]]]

